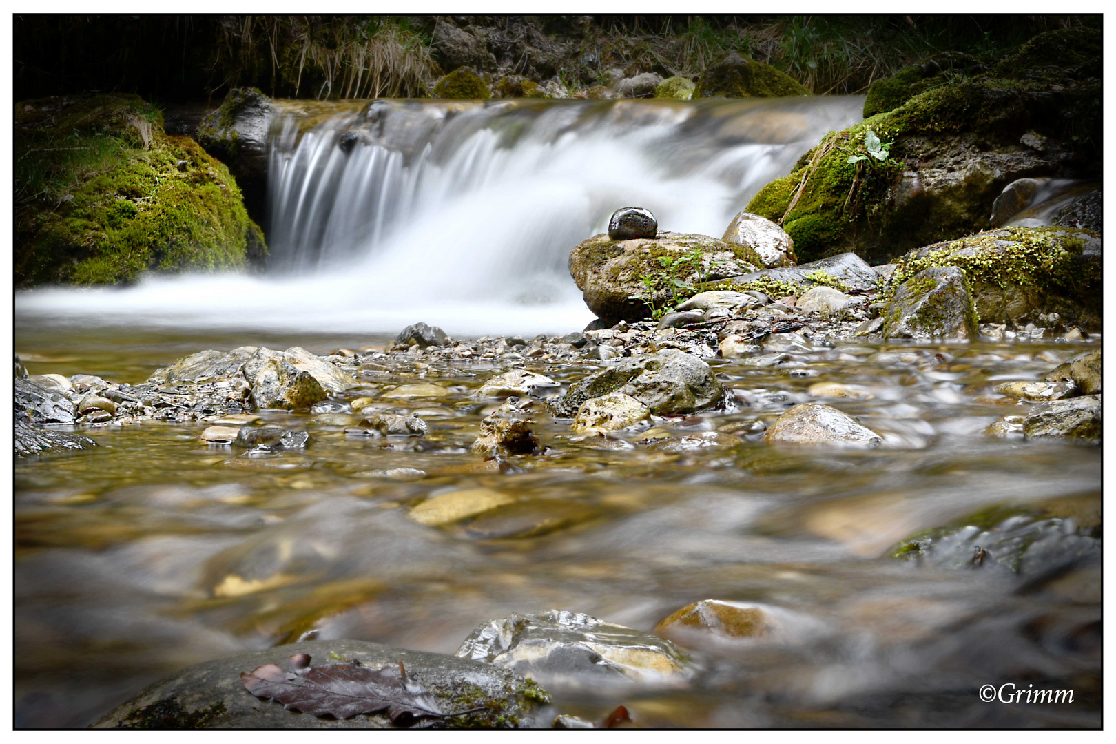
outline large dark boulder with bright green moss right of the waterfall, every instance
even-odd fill
[[[1051,31],[1023,50],[1060,49],[1066,39],[1093,49],[1099,31]],[[1040,73],[1052,75],[1047,67],[1035,62],[1038,71],[1029,73],[1022,60],[1016,71],[1001,62],[952,83],[929,80],[934,87],[902,105],[828,133],[790,174],[761,189],[747,210],[782,225],[804,261],[854,251],[883,263],[912,248],[988,228],[995,197],[1020,177],[1096,177],[1100,81],[1091,64],[1071,61],[1076,66],[1059,68],[1058,84],[1041,78]],[[1006,77],[1009,73],[1013,77]],[[887,96],[911,91],[877,91],[874,106],[886,107]],[[853,155],[867,155],[868,131],[892,143],[887,157],[849,163]],[[1046,144],[1041,149],[1021,144],[1027,134]]]

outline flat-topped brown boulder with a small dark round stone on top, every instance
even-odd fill
[[[658,259],[700,254],[701,261],[680,267],[677,280],[687,284],[719,281],[754,271],[761,265],[756,251],[709,235],[660,232],[655,239],[614,241],[607,235],[594,235],[569,254],[569,272],[581,290],[586,306],[607,322],[639,320],[651,317],[642,298],[647,288],[639,279],[655,278],[652,289],[656,307],[673,302],[676,288],[671,284]]]

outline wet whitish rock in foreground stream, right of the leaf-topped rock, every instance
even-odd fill
[[[458,656],[564,687],[663,684],[686,676],[685,656],[668,640],[565,610],[481,624]]]

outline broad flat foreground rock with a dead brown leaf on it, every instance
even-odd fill
[[[314,666],[357,660],[379,669],[397,668],[427,688],[446,713],[473,707],[482,712],[441,719],[465,728],[509,728],[531,725],[545,690],[530,680],[493,667],[442,654],[392,648],[363,640],[309,640],[246,651],[187,667],[151,685],[98,719],[95,728],[393,728],[386,713],[337,721],[287,711],[275,700],[254,697],[240,675],[276,664],[286,669],[290,657],[309,654]],[[551,714],[552,715],[552,714]]]

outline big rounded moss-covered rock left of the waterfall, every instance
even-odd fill
[[[16,105],[18,287],[243,269],[267,255],[228,168],[136,96]]]

